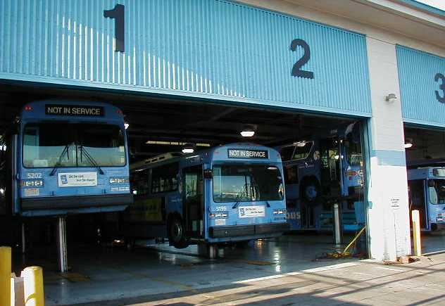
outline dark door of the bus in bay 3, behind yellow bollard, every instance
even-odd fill
[[[410,205],[410,215],[413,210],[418,210],[420,215],[420,228],[427,229],[428,219],[428,201],[425,198],[425,179],[415,179],[408,181],[408,195]],[[410,226],[413,227],[413,221],[410,219]]]

